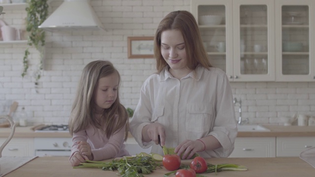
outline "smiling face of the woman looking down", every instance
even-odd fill
[[[161,33],[161,54],[173,70],[187,70],[185,42],[180,30],[169,29]]]

